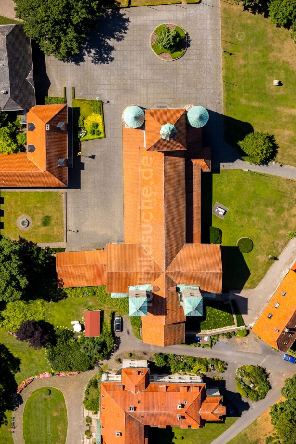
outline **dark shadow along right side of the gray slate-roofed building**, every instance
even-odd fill
[[[50,87],[50,80],[46,74],[45,54],[34,40],[31,40],[31,44],[36,105],[44,105],[44,97],[48,95]]]

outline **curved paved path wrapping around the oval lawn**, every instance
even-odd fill
[[[12,412],[15,418],[15,433],[13,436],[14,444],[25,444],[23,435],[23,414],[26,401],[35,390],[40,387],[54,387],[59,389],[65,398],[68,414],[68,431],[66,444],[81,444],[85,432],[84,414],[84,390],[97,370],[80,373],[78,375],[66,377],[51,377],[44,379],[34,379],[34,381],[22,390],[20,396],[22,404]],[[42,444],[42,443],[40,443]]]

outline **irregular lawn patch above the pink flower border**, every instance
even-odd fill
[[[45,350],[35,350],[28,342],[18,341],[14,336],[0,329],[0,342],[4,344],[14,357],[20,358],[20,372],[16,373],[16,382],[24,381],[30,376],[50,372],[50,366],[45,359]]]

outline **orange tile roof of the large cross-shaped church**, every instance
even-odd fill
[[[170,141],[160,136],[166,123],[177,128]],[[184,109],[148,110],[145,125],[145,137],[139,129],[122,130],[125,243],[107,245],[106,276],[99,280],[104,280],[108,293],[152,285],[148,316],[142,317],[143,341],[166,346],[184,342],[186,319],[178,294],[169,289],[200,285],[204,291],[220,293],[221,251],[219,245],[200,244],[201,170],[210,169],[210,149],[202,148],[201,129],[186,125]],[[190,244],[185,243],[186,231]],[[68,286],[75,276],[80,285],[98,285],[93,267],[82,264],[80,276],[75,265]],[[59,270],[66,281],[67,270]]]

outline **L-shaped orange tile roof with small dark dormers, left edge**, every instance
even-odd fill
[[[68,159],[67,105],[35,106],[27,122],[35,126],[34,131],[27,131],[27,146],[34,145],[35,151],[0,154],[1,188],[68,186],[68,166],[57,164],[59,159]],[[59,122],[65,123],[64,130],[57,127]]]

